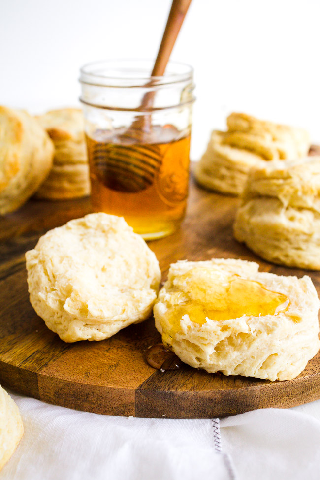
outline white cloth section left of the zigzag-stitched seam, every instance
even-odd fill
[[[25,434],[1,480],[232,478],[210,420],[104,416],[11,396]]]

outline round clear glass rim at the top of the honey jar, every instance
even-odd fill
[[[79,82],[101,87],[145,88],[192,80],[193,68],[181,62],[169,61],[164,75],[151,76],[154,60],[109,59],[91,62],[80,68]]]

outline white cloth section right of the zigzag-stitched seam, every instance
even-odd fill
[[[320,401],[313,403],[320,413]],[[320,479],[320,421],[313,416],[261,409],[225,418],[220,426],[240,479]]]

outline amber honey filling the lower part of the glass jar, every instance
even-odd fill
[[[190,133],[155,126],[134,138],[126,128],[87,136],[94,211],[123,216],[145,239],[172,233],[186,209]]]

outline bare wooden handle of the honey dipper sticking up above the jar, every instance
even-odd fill
[[[171,10],[164,29],[155,66],[151,73],[152,76],[163,75],[190,3],[191,0],[172,1]]]

